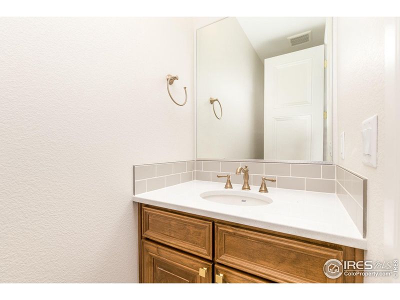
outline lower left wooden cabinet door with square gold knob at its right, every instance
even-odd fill
[[[148,240],[141,248],[144,283],[211,283],[211,262]]]

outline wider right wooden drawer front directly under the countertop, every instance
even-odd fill
[[[276,282],[342,282],[323,273],[343,251],[251,229],[215,223],[215,262]]]

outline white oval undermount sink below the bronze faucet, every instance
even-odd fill
[[[256,206],[272,203],[272,199],[267,196],[241,190],[205,191],[200,193],[200,197],[212,202],[240,206]]]

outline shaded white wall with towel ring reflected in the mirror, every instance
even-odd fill
[[[197,30],[196,54],[197,157],[262,159],[264,66],[237,19]]]

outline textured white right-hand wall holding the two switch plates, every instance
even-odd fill
[[[368,178],[365,259],[380,260],[383,253],[384,179],[384,18],[337,18],[338,134],[345,132],[345,156],[337,163]],[[361,122],[378,115],[377,168],[362,163]],[[338,152],[340,143],[337,143]],[[365,282],[384,282],[366,277]]]

